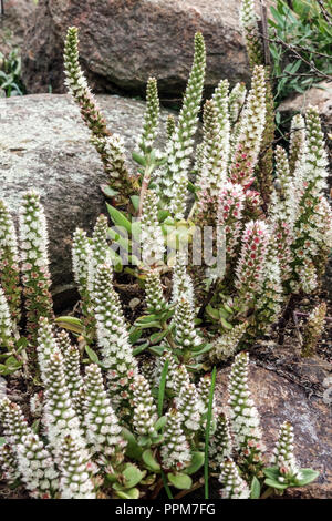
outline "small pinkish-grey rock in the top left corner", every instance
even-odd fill
[[[35,10],[33,0],[4,0],[4,16],[0,16],[0,50],[7,54],[20,48]]]

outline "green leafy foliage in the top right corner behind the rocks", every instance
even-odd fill
[[[328,17],[331,3],[322,2]],[[293,92],[326,80],[332,73],[331,19],[326,20],[317,0],[277,0],[269,18],[274,100],[280,103]]]

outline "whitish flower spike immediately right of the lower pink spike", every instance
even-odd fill
[[[257,333],[268,333],[280,315],[283,288],[278,252],[278,238],[271,236],[263,266],[263,284],[255,305],[255,337]]]

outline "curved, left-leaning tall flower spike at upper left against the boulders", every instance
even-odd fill
[[[96,136],[107,136],[110,132],[106,129],[106,122],[101,114],[94,95],[87,85],[85,76],[79,62],[79,30],[75,27],[68,29],[64,43],[64,74],[65,85],[69,93],[81,110],[84,123]]]

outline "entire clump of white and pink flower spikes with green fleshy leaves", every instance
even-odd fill
[[[252,9],[243,2],[251,86],[220,81],[197,142],[206,60],[197,33],[163,147],[157,82],[147,82],[134,167],[81,70],[77,29],[68,31],[65,83],[108,176],[112,226],[101,215],[91,236],[75,231],[80,316],[55,318],[40,195],[24,195],[18,235],[0,203],[0,372],[20,375],[31,395],[29,411],[0,395],[0,472],[31,498],[177,499],[204,487],[208,499],[215,479],[221,498],[258,499],[318,477],[297,463],[289,422],[269,459],[250,394],[248,348],[293,295],[317,288],[331,247],[317,109],[294,116],[270,182],[270,86]],[[134,324],[120,274],[145,294]],[[212,366],[228,360],[220,408]]]

